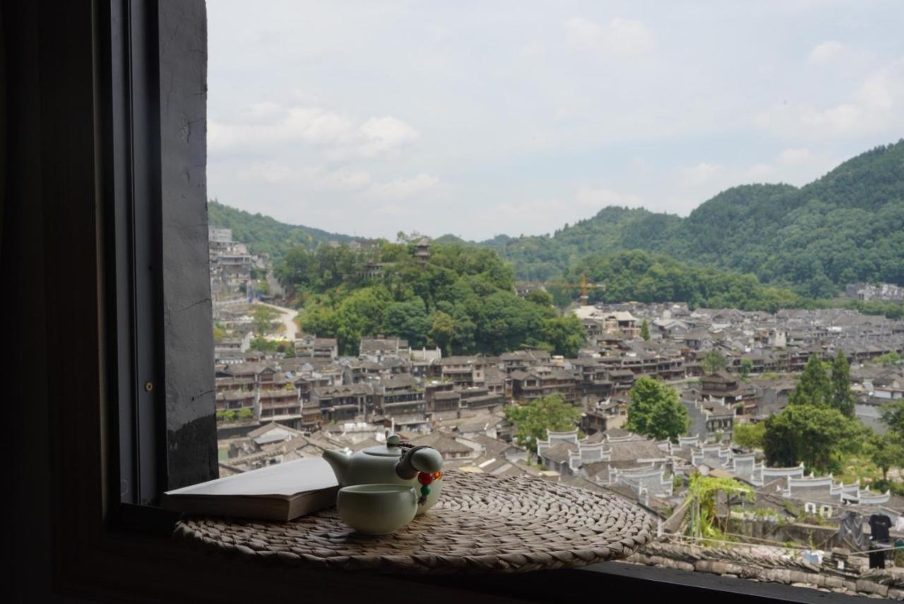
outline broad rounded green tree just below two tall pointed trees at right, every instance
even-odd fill
[[[828,473],[838,471],[845,453],[862,446],[862,428],[828,406],[788,405],[766,420],[763,449],[770,466],[796,466]]]

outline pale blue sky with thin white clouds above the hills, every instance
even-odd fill
[[[209,0],[208,195],[359,237],[685,216],[904,137],[904,3]]]

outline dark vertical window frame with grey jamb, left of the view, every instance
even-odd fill
[[[111,457],[120,501],[156,505],[165,490],[217,476],[212,350],[196,345],[212,342],[205,14],[198,2],[187,11],[155,0],[97,7],[109,93],[100,102],[108,376],[118,394]]]

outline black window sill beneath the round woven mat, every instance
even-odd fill
[[[805,587],[781,585],[755,580],[666,569],[627,562],[604,562],[577,569],[535,571],[528,573],[493,573],[480,575],[431,574],[410,576],[378,575],[366,571],[306,571],[267,564],[249,564],[247,559],[211,554],[184,543],[171,541],[178,514],[160,508],[125,506],[123,518],[127,530],[110,533],[103,553],[113,557],[93,566],[108,570],[123,561],[129,570],[116,571],[119,580],[132,586],[129,599],[138,593],[148,600],[172,601],[216,600],[218,602],[281,601],[304,585],[305,595],[323,595],[332,599],[371,598],[381,590],[402,593],[430,586],[433,601],[504,602],[560,600],[564,590],[574,593],[598,591],[607,597],[625,598],[692,598],[692,601],[716,601],[729,597],[734,602],[861,602],[862,598]],[[106,557],[106,555],[105,555]],[[80,561],[81,562],[81,561]],[[140,574],[135,569],[140,568]],[[186,574],[184,569],[191,569]],[[130,574],[131,571],[131,574]],[[80,579],[90,576],[79,574]],[[165,581],[146,578],[167,578]],[[241,581],[232,580],[241,577]],[[148,584],[139,581],[148,581]],[[94,595],[121,597],[109,592],[113,583]],[[405,590],[405,591],[398,591]],[[81,592],[84,595],[84,592]],[[366,594],[366,595],[363,595]],[[141,601],[139,599],[139,601]]]

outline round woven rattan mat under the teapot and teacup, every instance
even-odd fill
[[[175,536],[226,553],[309,569],[523,572],[625,558],[652,539],[653,521],[614,493],[532,477],[450,471],[427,514],[372,537],[335,508],[277,523],[186,518]]]

